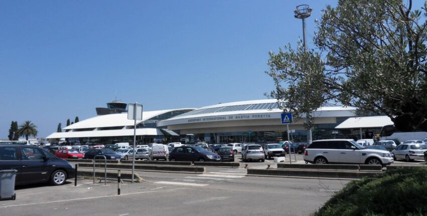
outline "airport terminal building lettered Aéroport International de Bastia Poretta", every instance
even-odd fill
[[[119,104],[122,103],[122,104]],[[64,132],[52,133],[47,137],[51,142],[65,138],[71,143],[133,142],[134,121],[127,119],[126,103],[108,103],[111,111],[103,109],[98,116],[63,128]],[[117,107],[121,106],[118,111]],[[339,138],[342,135],[336,126],[350,117],[356,109],[326,103],[313,112],[313,140]],[[287,140],[286,126],[281,124],[276,99],[262,99],[220,103],[199,109],[174,109],[145,111],[143,120],[137,121],[138,143],[167,143],[172,141],[200,140],[209,143],[230,142],[278,142]],[[289,125],[292,140],[306,140],[304,118]],[[352,137],[340,137],[352,138]]]

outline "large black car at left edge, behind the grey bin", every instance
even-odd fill
[[[0,170],[17,170],[17,185],[50,182],[64,184],[74,178],[73,165],[44,149],[27,145],[0,146]]]

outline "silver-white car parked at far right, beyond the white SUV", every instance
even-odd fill
[[[394,158],[405,159],[407,162],[412,160],[423,160],[424,152],[427,151],[427,145],[419,143],[403,143],[400,144],[391,153]]]

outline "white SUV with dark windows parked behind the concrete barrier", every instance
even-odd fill
[[[316,140],[305,148],[304,161],[315,164],[354,163],[389,165],[392,154],[378,149],[366,149],[354,140]]]

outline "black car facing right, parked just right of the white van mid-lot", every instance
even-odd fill
[[[198,146],[175,147],[169,153],[169,161],[221,161],[221,157]]]

